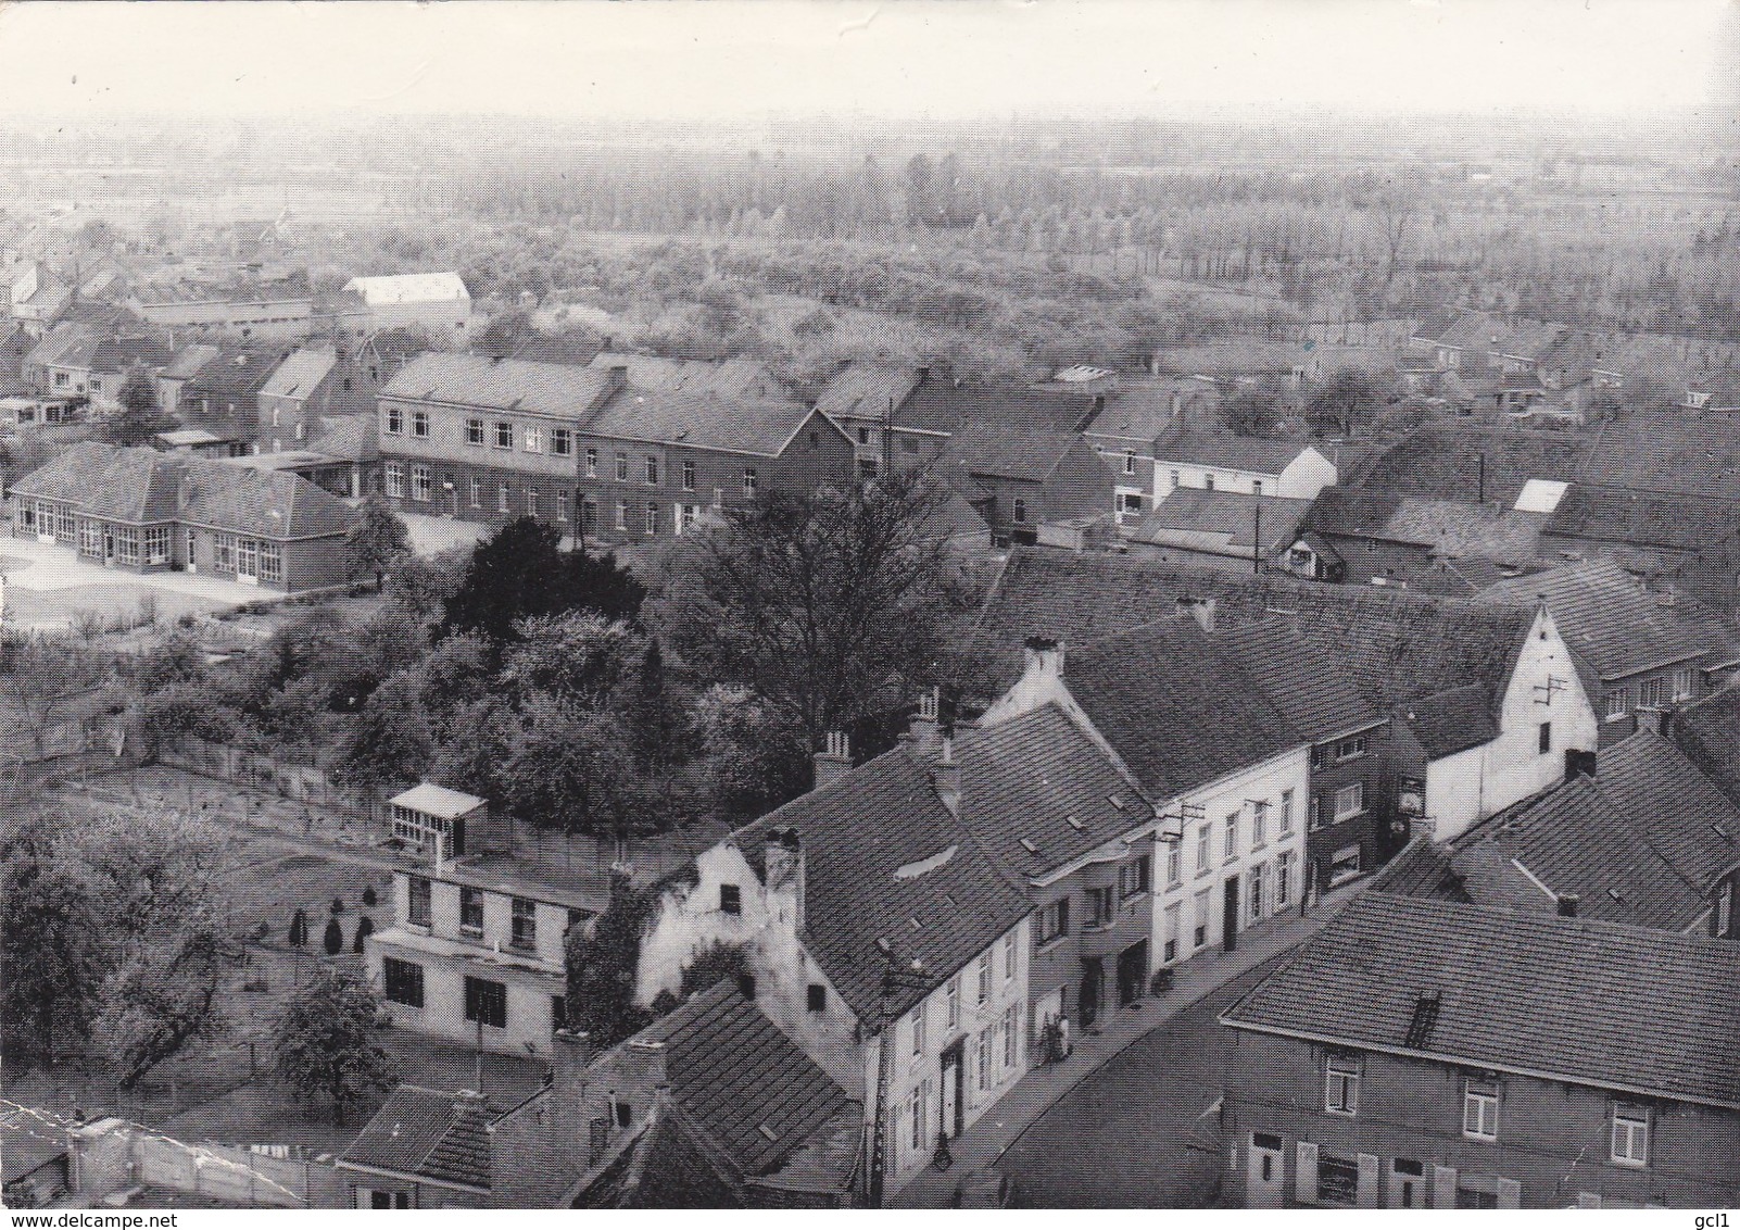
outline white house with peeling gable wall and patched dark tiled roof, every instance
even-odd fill
[[[745,993],[863,1103],[867,1157],[886,1106],[893,1190],[1027,1070],[1028,906],[957,819],[955,765],[901,746],[830,781],[842,760],[666,889],[639,997],[740,946]]]

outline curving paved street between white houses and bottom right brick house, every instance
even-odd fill
[[[1213,1206],[1223,1171],[1218,1115],[1227,1046],[1215,1018],[1275,957],[1114,1056],[1028,1127],[997,1169],[1020,1207],[1192,1209]],[[1089,1164],[1091,1159],[1091,1164]]]

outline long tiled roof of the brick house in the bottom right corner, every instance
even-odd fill
[[[1366,892],[1221,1021],[1740,1108],[1735,986],[1740,945]]]

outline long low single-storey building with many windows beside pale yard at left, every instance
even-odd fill
[[[357,511],[292,473],[87,440],[9,492],[12,532],[132,572],[270,590],[338,585]]]

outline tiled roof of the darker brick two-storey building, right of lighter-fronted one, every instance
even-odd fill
[[[816,416],[800,402],[726,398],[687,390],[659,393],[630,384],[581,430],[614,440],[778,458],[806,424],[840,435],[832,419]]]

